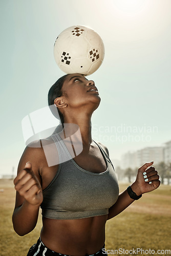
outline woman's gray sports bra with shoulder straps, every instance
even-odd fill
[[[59,135],[54,136],[59,159],[62,159],[62,154],[70,155]],[[42,216],[61,220],[109,213],[109,208],[118,199],[119,187],[109,156],[99,144],[97,145],[107,165],[105,172],[88,172],[79,167],[71,157],[69,161],[61,161],[54,179],[43,190],[44,200],[40,206]]]

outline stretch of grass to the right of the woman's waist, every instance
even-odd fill
[[[128,185],[120,184],[120,191]],[[151,248],[155,253],[157,250],[171,250],[170,217],[171,187],[161,185],[158,190],[144,194],[121,214],[107,221],[105,247],[108,250],[142,248],[148,251]]]

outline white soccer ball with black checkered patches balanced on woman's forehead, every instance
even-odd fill
[[[63,30],[56,38],[54,57],[63,72],[88,76],[93,74],[103,61],[103,41],[88,27],[72,26]]]

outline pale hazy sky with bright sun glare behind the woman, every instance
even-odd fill
[[[88,76],[101,96],[93,138],[112,159],[171,140],[170,7],[170,0],[1,1],[0,174],[12,166],[16,173],[22,119],[47,106],[49,88],[64,74],[53,45],[73,25],[93,28],[105,47],[101,67]]]

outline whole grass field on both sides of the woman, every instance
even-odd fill
[[[120,191],[129,184],[120,184]],[[0,256],[26,256],[34,244],[41,229],[41,215],[36,228],[24,237],[19,237],[13,230],[12,212],[15,202],[15,189],[12,180],[0,180]],[[111,255],[134,255],[123,249],[142,248],[152,255],[149,249],[171,250],[171,186],[161,185],[157,190],[147,193],[134,202],[120,215],[106,223],[106,250]],[[119,251],[120,248],[120,251]],[[113,251],[112,251],[113,250]],[[120,253],[119,253],[120,252]],[[143,251],[142,251],[143,252]],[[153,252],[153,251],[152,251]],[[162,251],[162,254],[170,255]]]

